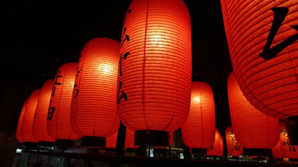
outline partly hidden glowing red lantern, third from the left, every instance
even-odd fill
[[[38,141],[54,142],[47,132],[47,115],[54,79],[48,80],[41,88],[32,124],[32,135]]]

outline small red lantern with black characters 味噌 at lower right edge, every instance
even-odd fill
[[[287,129],[284,121],[280,122],[280,147],[283,150],[284,158],[298,159],[298,146],[290,145]]]

